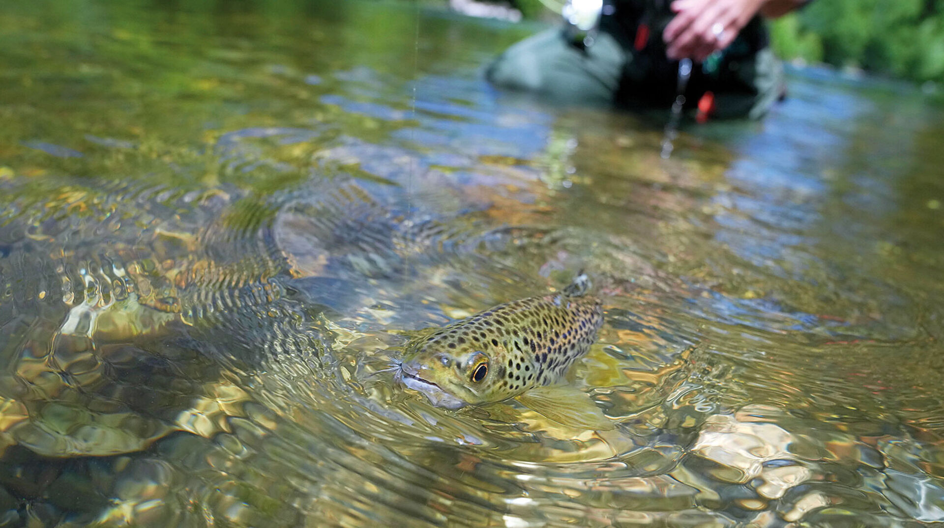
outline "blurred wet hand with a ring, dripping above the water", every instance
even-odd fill
[[[728,47],[764,3],[765,0],[675,0],[670,6],[675,18],[662,34],[667,44],[666,55],[673,60],[704,60]]]

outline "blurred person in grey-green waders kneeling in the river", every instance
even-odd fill
[[[784,94],[763,17],[809,0],[569,0],[565,27],[517,42],[487,69],[503,88],[561,102],[668,108],[679,60],[695,62],[686,109],[756,119]]]

